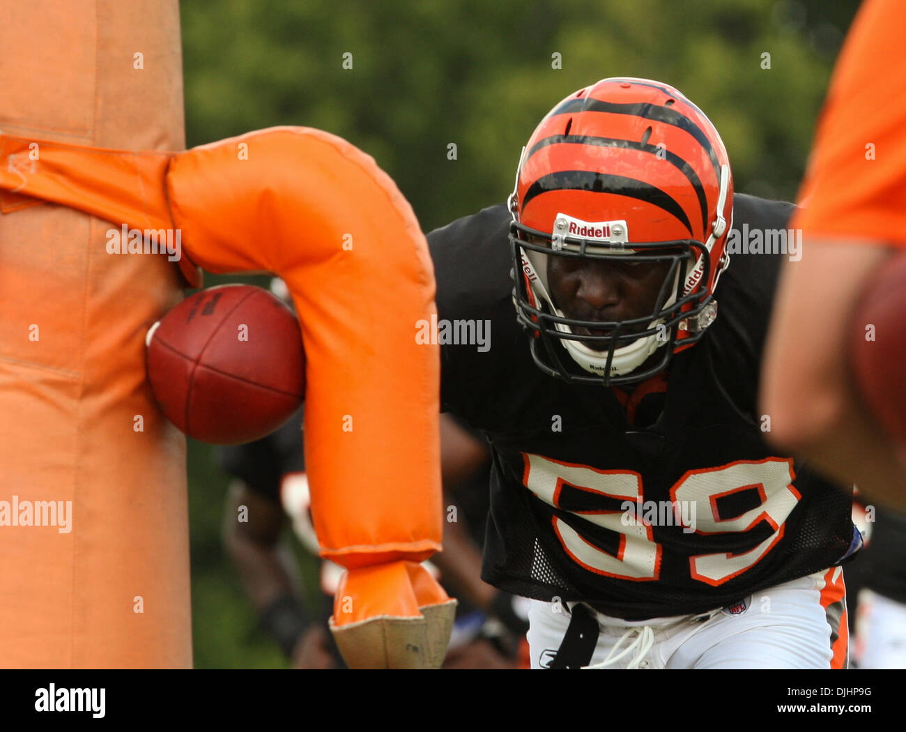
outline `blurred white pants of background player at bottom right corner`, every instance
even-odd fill
[[[906,605],[859,592],[855,631],[860,669],[906,669]]]

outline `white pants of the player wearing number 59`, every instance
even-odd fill
[[[633,622],[594,613],[600,634],[590,665],[607,660],[618,643],[623,649],[634,641],[635,648],[608,668],[845,668],[844,593],[843,571],[835,567],[757,592],[704,620],[677,616]],[[533,601],[528,619],[532,668],[547,668],[570,614],[556,603]]]

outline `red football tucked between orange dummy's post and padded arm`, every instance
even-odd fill
[[[160,409],[202,442],[263,438],[304,400],[299,323],[260,287],[229,284],[192,294],[151,326],[146,343]]]

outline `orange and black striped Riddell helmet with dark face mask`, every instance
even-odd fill
[[[535,334],[532,352],[544,371],[639,382],[714,320],[714,287],[728,265],[733,178],[718,130],[673,87],[604,79],[560,101],[523,150],[509,207],[515,271],[522,273],[516,311]],[[549,294],[546,257],[554,255],[671,265],[650,315],[585,322],[566,317]],[[592,376],[568,368],[558,344]]]

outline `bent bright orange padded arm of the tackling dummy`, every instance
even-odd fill
[[[409,564],[441,543],[439,354],[415,339],[436,312],[433,268],[411,207],[374,160],[289,127],[174,155],[39,141],[30,160],[34,141],[0,135],[0,188],[14,192],[5,210],[34,197],[117,225],[175,226],[194,284],[195,265],[284,279],[307,357],[314,525],[322,554],[353,569],[352,614],[446,600]],[[379,576],[396,589],[378,592]]]

